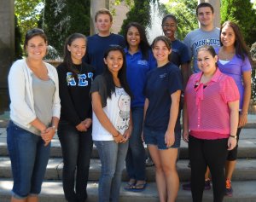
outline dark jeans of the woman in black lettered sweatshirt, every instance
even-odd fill
[[[65,198],[69,202],[84,202],[93,145],[91,130],[79,132],[73,125],[61,121],[58,136],[64,163],[62,182]]]

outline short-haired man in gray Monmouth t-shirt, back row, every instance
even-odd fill
[[[193,57],[193,72],[200,72],[197,66],[197,50],[203,45],[220,46],[219,28],[213,26],[214,9],[210,3],[201,3],[196,8],[196,17],[200,28],[189,32],[183,43],[189,47],[190,58]]]

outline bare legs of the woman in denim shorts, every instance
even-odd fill
[[[176,170],[177,148],[159,150],[154,145],[148,145],[148,149],[154,161],[160,202],[175,202],[179,188]]]

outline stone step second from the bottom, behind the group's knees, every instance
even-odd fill
[[[46,180],[61,180],[62,176],[62,159],[51,158],[47,165],[45,174]],[[188,160],[180,159],[177,161],[177,172],[181,182],[189,181],[190,169],[188,168]],[[99,159],[91,159],[90,161],[90,181],[98,181],[101,174],[101,162]],[[11,178],[11,165],[8,157],[0,157],[0,178]],[[147,167],[146,177],[148,182],[154,182],[154,166]],[[128,176],[123,170],[123,181],[127,181]],[[236,170],[233,175],[234,181],[255,180],[256,181],[256,159],[238,159]],[[256,191],[256,189],[255,189]]]

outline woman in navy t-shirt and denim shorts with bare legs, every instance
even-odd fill
[[[160,201],[174,202],[179,187],[176,160],[180,147],[180,135],[174,127],[183,89],[182,76],[179,68],[168,59],[172,52],[169,38],[155,38],[152,49],[157,68],[148,72],[144,88],[143,138],[154,161]]]

